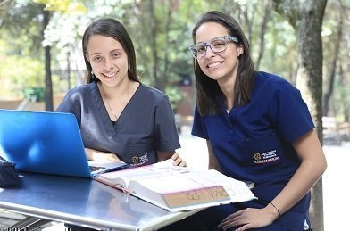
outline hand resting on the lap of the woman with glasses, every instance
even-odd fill
[[[263,209],[247,208],[239,210],[223,219],[218,227],[221,227],[223,230],[239,227],[236,231],[244,231],[251,228],[269,226],[278,218],[279,213],[269,204]]]

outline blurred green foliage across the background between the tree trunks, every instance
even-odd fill
[[[192,29],[199,17],[209,10],[229,12],[240,22],[250,39],[254,60],[258,57],[261,39],[261,25],[265,4],[269,1],[245,0],[154,0],[153,13],[150,13],[151,0],[12,0],[7,2],[7,11],[1,12],[0,42],[5,49],[0,54],[0,78],[6,82],[1,86],[1,96],[21,95],[25,86],[44,86],[43,45],[50,45],[54,92],[66,92],[67,82],[58,76],[66,69],[68,53],[71,54],[71,71],[85,70],[81,54],[81,36],[87,25],[101,17],[112,17],[121,21],[129,31],[137,53],[137,70],[146,84],[157,87],[164,84],[164,90],[171,97],[173,105],[181,101],[178,88],[181,76],[193,74],[193,58],[187,50],[192,44]],[[341,1],[341,7],[348,14],[349,1]],[[323,21],[324,43],[324,84],[327,84],[329,64],[334,57],[334,41],[339,23],[337,0],[329,0]],[[43,37],[42,11],[51,11],[51,21]],[[4,16],[3,16],[4,15]],[[169,16],[170,15],[170,16]],[[169,18],[170,17],[170,18]],[[3,19],[4,18],[4,19]],[[152,23],[154,22],[154,30]],[[168,23],[169,22],[169,23]],[[346,18],[344,35],[348,31]],[[288,21],[272,11],[264,36],[264,52],[260,70],[270,71],[295,82],[296,36]],[[349,67],[349,43],[342,42],[339,61],[343,74],[337,70],[338,84],[335,86],[332,110],[341,110],[341,101],[346,94],[346,78]],[[154,56],[154,49],[156,55]],[[2,49],[3,50],[3,49]],[[13,71],[15,67],[16,71]],[[341,77],[342,76],[342,77]],[[72,75],[74,78],[74,75]],[[340,84],[340,81],[342,81]],[[80,83],[76,78],[72,86]],[[343,87],[343,88],[342,88]],[[342,95],[342,96],[341,96]]]

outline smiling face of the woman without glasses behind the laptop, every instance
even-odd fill
[[[102,84],[113,87],[128,80],[128,55],[118,40],[101,35],[90,37],[86,58]]]

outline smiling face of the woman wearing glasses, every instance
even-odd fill
[[[196,43],[209,43],[215,37],[229,36],[229,30],[216,22],[205,22],[196,30]],[[225,81],[236,78],[238,68],[238,56],[243,49],[232,41],[229,41],[224,52],[213,53],[207,47],[206,54],[197,60],[201,70],[209,78],[217,81]]]

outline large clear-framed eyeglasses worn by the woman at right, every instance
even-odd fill
[[[197,43],[195,45],[190,45],[188,49],[191,51],[195,59],[200,59],[206,54],[208,46],[215,54],[223,53],[226,51],[229,41],[237,43],[238,38],[231,36],[214,37],[209,43]]]

